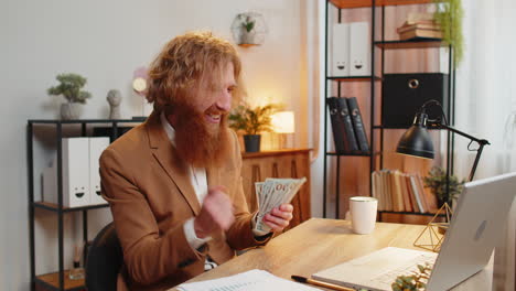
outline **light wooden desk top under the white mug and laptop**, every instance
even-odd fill
[[[189,282],[232,276],[251,269],[267,270],[288,279],[291,274],[310,277],[314,272],[384,247],[420,249],[413,247],[412,242],[423,228],[422,225],[377,223],[373,234],[354,235],[347,220],[312,218],[273,238],[266,247],[247,251]],[[452,290],[491,290],[492,262]]]

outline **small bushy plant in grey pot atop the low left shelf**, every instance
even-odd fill
[[[61,118],[65,120],[77,119],[80,114],[80,105],[92,97],[89,91],[82,90],[86,85],[86,78],[78,74],[60,74],[56,79],[60,85],[47,89],[50,95],[63,95],[67,103],[61,105]]]

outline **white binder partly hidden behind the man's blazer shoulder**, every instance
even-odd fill
[[[109,146],[109,138],[89,138],[89,204],[105,204],[100,195],[100,174],[98,172],[98,159]]]

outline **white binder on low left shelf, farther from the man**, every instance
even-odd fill
[[[87,206],[89,204],[88,138],[64,138],[62,144],[63,206]]]

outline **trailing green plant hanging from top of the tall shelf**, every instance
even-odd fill
[[[461,0],[434,0],[436,12],[433,19],[441,26],[442,41],[453,46],[453,63],[455,67],[461,63],[464,53],[464,37],[462,35]]]

